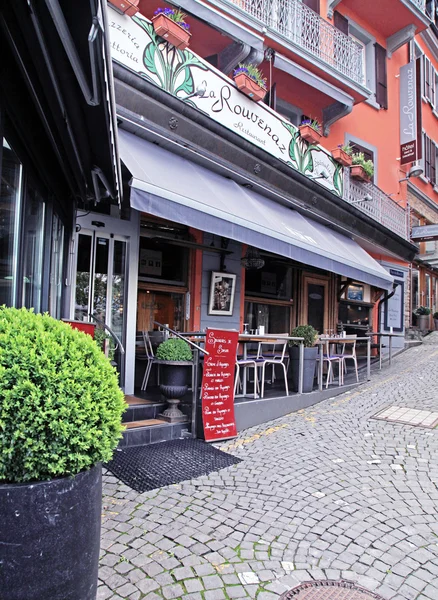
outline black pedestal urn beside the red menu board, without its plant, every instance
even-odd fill
[[[167,399],[169,405],[159,416],[169,423],[186,423],[187,417],[178,408],[180,398],[182,398],[188,389],[188,378],[190,367],[193,363],[190,361],[157,361],[160,365],[161,385],[160,391]]]

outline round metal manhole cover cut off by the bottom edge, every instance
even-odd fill
[[[383,600],[382,596],[352,581],[306,581],[280,596],[280,600]]]

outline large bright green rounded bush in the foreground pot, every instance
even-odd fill
[[[0,483],[76,475],[111,459],[126,408],[92,338],[0,307]]]

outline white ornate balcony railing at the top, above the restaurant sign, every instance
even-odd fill
[[[415,0],[419,2],[420,0]],[[301,0],[222,0],[233,4],[288,42],[352,79],[364,83],[363,48]]]

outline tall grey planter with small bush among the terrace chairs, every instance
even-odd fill
[[[303,371],[303,392],[313,390],[313,380],[315,378],[316,359],[318,358],[318,347],[315,342],[318,338],[318,332],[311,325],[299,325],[291,331],[291,337],[304,338],[304,371]],[[292,385],[294,390],[298,391],[298,377],[300,365],[300,342],[291,340],[289,342],[289,356],[292,367]]]

